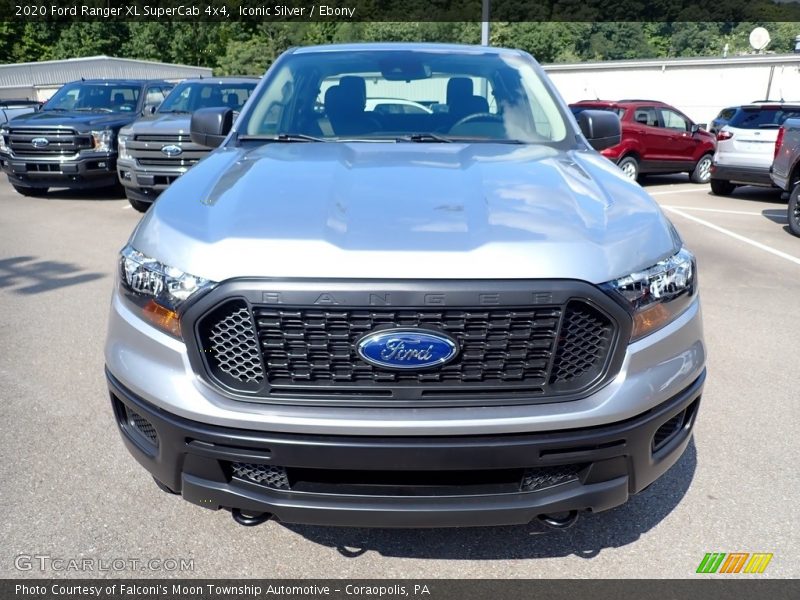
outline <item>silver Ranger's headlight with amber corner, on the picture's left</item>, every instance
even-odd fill
[[[166,333],[181,337],[179,309],[191,296],[214,282],[184,273],[127,245],[120,252],[120,291],[140,316]]]

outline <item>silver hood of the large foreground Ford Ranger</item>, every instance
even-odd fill
[[[161,196],[132,244],[214,281],[600,283],[680,241],[647,193],[595,152],[355,142],[220,149]]]

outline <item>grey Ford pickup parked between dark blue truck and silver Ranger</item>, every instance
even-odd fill
[[[169,185],[211,151],[189,139],[189,120],[200,108],[223,106],[238,114],[258,84],[253,77],[187,79],[152,115],[119,132],[119,181],[131,206],[146,211]]]

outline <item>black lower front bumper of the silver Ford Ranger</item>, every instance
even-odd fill
[[[667,401],[618,423],[414,437],[212,426],[159,409],[108,371],[107,377],[125,445],[190,502],[270,513],[286,523],[442,527],[524,524],[542,514],[623,504],[683,454],[705,370]],[[256,482],[241,474],[242,464],[269,467],[282,479]],[[527,485],[530,477],[539,483]]]

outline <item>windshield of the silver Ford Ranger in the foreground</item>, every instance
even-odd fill
[[[567,126],[521,56],[412,50],[284,57],[237,127],[243,139],[548,143]]]

